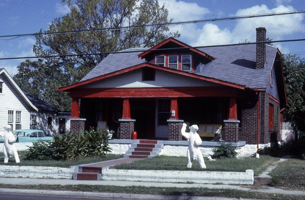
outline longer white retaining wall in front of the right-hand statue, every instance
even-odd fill
[[[125,170],[102,168],[102,180],[148,181],[166,183],[241,184],[253,185],[254,172]]]

